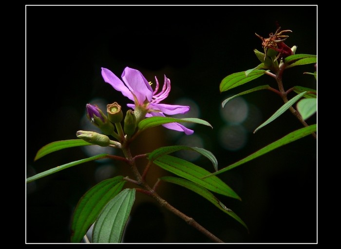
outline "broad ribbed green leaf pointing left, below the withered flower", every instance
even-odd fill
[[[237,86],[241,86],[253,79],[261,77],[262,75],[265,74],[266,71],[257,69],[253,70],[252,72],[248,72],[249,73],[248,75],[246,75],[246,72],[234,73],[225,77],[220,83],[219,86],[220,92],[221,93],[225,92]]]

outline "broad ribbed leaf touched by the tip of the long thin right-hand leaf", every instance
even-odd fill
[[[241,198],[218,177],[209,177],[208,179],[203,180],[202,178],[210,174],[210,172],[193,163],[170,155],[157,157],[153,162],[162,169],[195,182],[210,191],[241,200]]]

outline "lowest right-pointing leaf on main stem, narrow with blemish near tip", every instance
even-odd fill
[[[172,177],[172,176],[164,176],[164,177],[161,177],[159,179],[162,180],[162,181],[165,181],[165,182],[170,182],[170,183],[178,184],[178,185],[183,186],[183,187],[185,187],[185,188],[187,188],[187,189],[189,189],[189,190],[191,190],[193,192],[196,192],[196,193],[200,194],[201,196],[206,198],[208,201],[213,203],[214,206],[216,206],[218,209],[220,209],[221,211],[227,213],[229,216],[231,216],[232,218],[237,220],[239,223],[241,223],[248,230],[246,224],[242,221],[242,219],[239,218],[232,210],[228,209],[221,201],[218,200],[217,197],[215,197],[207,189],[201,187],[200,185],[198,185],[198,184],[196,184],[194,182],[190,182],[188,180],[181,179],[181,178],[176,178],[176,177]]]

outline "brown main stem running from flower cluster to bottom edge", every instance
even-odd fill
[[[123,144],[122,150],[124,155],[129,161],[129,166],[138,182],[138,185],[142,188],[141,189],[136,189],[136,191],[143,192],[145,194],[150,195],[155,201],[157,201],[160,206],[168,209],[172,213],[176,214],[179,216],[181,219],[186,221],[190,226],[196,228],[203,234],[205,234],[208,238],[210,238],[212,241],[217,242],[217,243],[224,243],[221,239],[216,237],[214,234],[206,230],[204,227],[202,227],[199,223],[197,223],[193,218],[190,218],[186,214],[182,213],[181,211],[175,209],[173,206],[171,206],[166,200],[162,199],[156,192],[152,190],[152,188],[148,185],[148,183],[145,181],[145,179],[142,178],[140,172],[137,170],[135,160],[133,160],[132,153],[130,149],[127,147],[126,144]]]

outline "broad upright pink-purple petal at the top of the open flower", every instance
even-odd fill
[[[126,67],[122,73],[122,79],[126,86],[137,97],[140,105],[143,104],[146,98],[149,102],[152,100],[152,87],[140,71]]]

